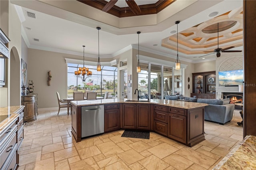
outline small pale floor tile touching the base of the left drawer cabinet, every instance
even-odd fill
[[[19,165],[26,165],[30,164],[32,162],[37,162],[41,160],[41,151],[38,152],[32,152],[29,154],[24,154],[19,156]]]

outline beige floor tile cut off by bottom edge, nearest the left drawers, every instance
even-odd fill
[[[48,158],[27,164],[26,170],[54,170],[54,158]]]

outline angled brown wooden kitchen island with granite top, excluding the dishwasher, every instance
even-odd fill
[[[82,108],[104,105],[104,133],[119,129],[157,132],[187,146],[204,140],[204,107],[208,104],[166,99],[72,101],[72,134],[82,140]]]

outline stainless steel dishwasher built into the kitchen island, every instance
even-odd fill
[[[104,133],[104,105],[82,107],[82,138]]]

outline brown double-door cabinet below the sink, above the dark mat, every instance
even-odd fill
[[[150,130],[150,104],[123,104],[123,128]]]

